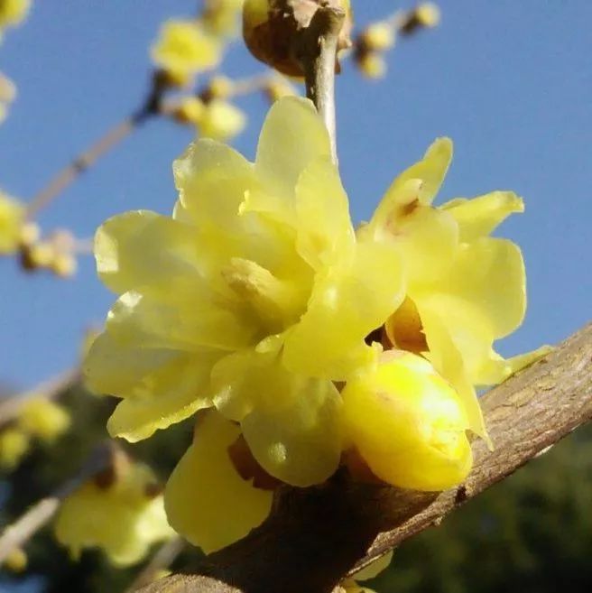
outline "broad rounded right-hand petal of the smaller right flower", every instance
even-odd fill
[[[507,239],[491,237],[464,244],[433,291],[449,293],[477,308],[491,323],[494,338],[504,338],[520,326],[526,310],[520,248]]]

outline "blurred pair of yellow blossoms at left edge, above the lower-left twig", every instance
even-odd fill
[[[0,430],[0,468],[14,469],[30,449],[32,440],[51,445],[70,424],[69,413],[42,395],[29,397],[14,421]]]

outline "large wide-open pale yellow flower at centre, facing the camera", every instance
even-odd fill
[[[254,163],[200,139],[173,169],[172,218],[97,231],[98,273],[122,295],[85,364],[91,389],[123,398],[108,429],[140,440],[215,405],[269,474],[319,483],[341,454],[334,381],[375,364],[365,336],[402,301],[399,255],[356,243],[306,99],[274,104]]]

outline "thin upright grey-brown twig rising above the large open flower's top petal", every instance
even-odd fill
[[[333,162],[338,162],[335,126],[335,66],[339,32],[346,12],[338,6],[319,6],[298,38],[296,55],[301,61],[306,96],[317,107],[331,142]]]

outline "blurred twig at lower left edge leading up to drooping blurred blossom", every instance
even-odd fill
[[[77,476],[69,478],[51,496],[42,498],[13,524],[6,527],[2,535],[0,535],[0,565],[6,560],[11,551],[22,548],[35,533],[51,521],[53,515],[60,508],[61,502],[67,496],[82,486],[88,479],[108,468],[111,459],[113,459],[113,445],[109,442],[99,445],[80,468]]]

